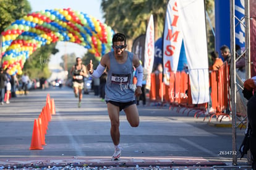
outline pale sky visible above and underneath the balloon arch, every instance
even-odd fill
[[[95,19],[100,20],[100,22],[105,21],[100,8],[101,0],[44,0],[43,2],[38,0],[28,0],[28,2],[30,2],[30,6],[32,7],[32,12],[45,11],[46,9],[70,8],[72,10],[91,15]],[[60,41],[56,48],[59,49],[59,53],[51,56],[49,60],[50,69],[59,66],[59,62],[62,62],[61,56],[65,53],[75,53],[77,57],[81,57],[83,54],[87,53],[87,49],[75,43],[65,44]]]

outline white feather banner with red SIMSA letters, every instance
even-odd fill
[[[177,71],[179,62],[183,38],[179,22],[177,0],[169,0],[163,34],[163,75],[166,85],[169,85],[171,71]]]

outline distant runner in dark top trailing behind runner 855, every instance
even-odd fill
[[[77,57],[75,59],[76,64],[70,69],[70,74],[72,75],[72,82],[73,82],[73,88],[75,97],[79,97],[79,104],[78,107],[81,107],[81,101],[83,98],[82,90],[83,90],[83,77],[87,76],[87,69],[82,64],[82,59],[80,57]]]

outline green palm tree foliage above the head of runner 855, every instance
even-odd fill
[[[148,20],[153,14],[157,40],[163,33],[167,4],[168,0],[103,0],[101,9],[106,24],[115,32],[126,33],[127,38],[133,40],[146,33]]]

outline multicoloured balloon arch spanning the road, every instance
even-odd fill
[[[111,49],[113,33],[105,23],[69,8],[33,12],[1,33],[2,67],[20,75],[30,54],[57,41],[77,43],[100,57]]]

